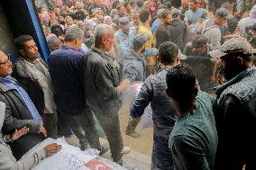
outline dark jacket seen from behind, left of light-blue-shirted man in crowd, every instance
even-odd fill
[[[167,26],[169,30],[170,41],[178,45],[178,49],[183,51],[187,43],[187,25],[184,21],[174,18],[170,25]]]

